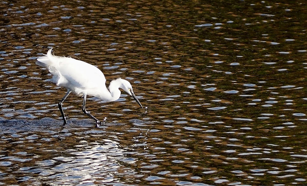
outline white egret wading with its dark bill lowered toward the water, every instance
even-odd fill
[[[121,92],[119,88],[121,88],[132,96],[141,108],[143,108],[138,98],[134,95],[131,84],[127,80],[117,78],[111,81],[109,91],[106,86],[106,78],[99,68],[70,57],[52,55],[51,50],[52,48],[48,50],[47,55],[44,54],[45,56],[38,57],[36,64],[49,70],[53,75],[53,83],[67,89],[67,93],[58,104],[64,124],[67,121],[62,104],[71,92],[77,95],[83,95],[82,111],[96,121],[97,127],[99,127],[99,123],[101,122],[85,109],[87,95],[105,101],[115,101],[120,97]]]

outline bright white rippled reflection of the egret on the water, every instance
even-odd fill
[[[92,145],[92,146],[91,146]],[[116,182],[118,177],[133,173],[129,168],[124,168],[121,163],[135,163],[135,158],[127,158],[126,150],[120,148],[118,142],[108,140],[107,145],[93,142],[81,145],[86,150],[66,150],[63,156],[52,158],[48,161],[36,162],[40,167],[45,167],[39,173],[39,179],[50,183],[76,184],[103,184]],[[69,152],[72,151],[72,152]],[[29,170],[32,172],[33,170]]]

